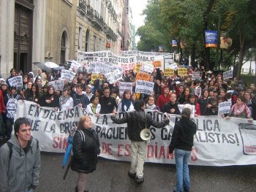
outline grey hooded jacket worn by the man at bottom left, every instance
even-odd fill
[[[6,144],[0,148],[0,191],[27,192],[39,185],[40,151],[37,139],[31,137],[27,150],[20,147],[16,136],[12,143],[12,155]]]

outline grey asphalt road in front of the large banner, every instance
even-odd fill
[[[37,191],[75,191],[78,175],[69,170],[62,180],[63,154],[41,153],[41,173]],[[236,192],[256,191],[256,165],[250,166],[189,166],[192,192]],[[176,185],[176,168],[173,164],[152,164],[144,166],[145,182],[138,185],[127,176],[129,162],[110,161],[99,158],[97,170],[88,175],[86,190],[96,191],[173,191]]]

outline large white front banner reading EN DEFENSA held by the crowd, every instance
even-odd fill
[[[146,110],[154,120],[163,120],[160,112]],[[42,151],[64,153],[70,127],[76,126],[83,115],[80,107],[65,112],[55,112],[37,107],[30,101],[19,101],[17,117],[31,120],[32,134],[39,139]],[[121,118],[124,113],[116,115]],[[99,136],[104,158],[130,161],[131,145],[127,135],[127,124],[114,124],[110,115],[91,116],[94,129]],[[147,162],[174,164],[168,145],[179,115],[171,115],[165,128],[151,127],[152,137],[148,144]],[[256,121],[249,123],[242,118],[225,120],[220,116],[192,118],[197,124],[194,147],[189,164],[203,166],[246,165],[256,163]]]

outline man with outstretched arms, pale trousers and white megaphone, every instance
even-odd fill
[[[131,169],[129,177],[135,178],[136,183],[143,183],[143,165],[146,159],[147,140],[151,138],[150,126],[162,128],[170,122],[169,117],[156,122],[151,115],[146,114],[146,103],[143,100],[135,102],[135,111],[127,112],[124,118],[118,119],[115,113],[111,115],[114,123],[127,123],[128,137],[131,140]],[[147,129],[147,130],[146,130]]]

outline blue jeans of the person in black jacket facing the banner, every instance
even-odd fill
[[[190,190],[189,180],[189,160],[191,151],[175,149],[175,162],[176,162],[176,191],[183,192]]]

